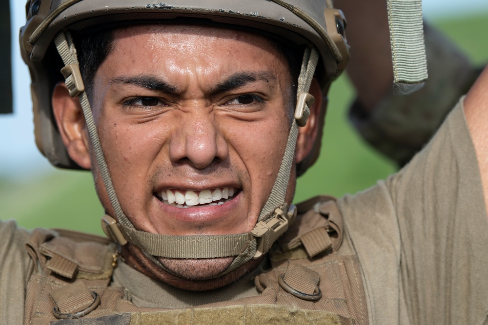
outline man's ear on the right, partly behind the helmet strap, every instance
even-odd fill
[[[297,163],[304,160],[308,153],[311,152],[315,138],[317,137],[319,131],[323,94],[316,78],[312,79],[309,93],[314,97],[315,100],[310,107],[310,115],[308,115],[306,125],[298,129],[296,146]]]

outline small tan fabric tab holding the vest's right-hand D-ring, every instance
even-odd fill
[[[319,273],[304,266],[289,262],[284,280],[293,289],[311,295],[315,292],[320,281]]]

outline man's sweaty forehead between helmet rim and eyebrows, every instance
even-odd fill
[[[154,63],[178,62],[211,66],[227,61],[252,65],[277,63],[287,67],[276,42],[264,36],[231,28],[201,25],[135,25],[117,29],[112,53],[149,59]],[[230,59],[229,59],[230,58]],[[134,62],[135,63],[135,62]]]

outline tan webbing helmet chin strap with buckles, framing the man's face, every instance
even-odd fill
[[[302,69],[298,79],[298,100],[295,118],[291,123],[278,175],[271,193],[261,210],[256,227],[250,233],[241,234],[170,236],[135,229],[122,211],[103,155],[102,145],[84,89],[76,49],[71,35],[67,31],[59,32],[56,35],[55,43],[65,64],[65,67],[61,69],[61,73],[65,77],[66,87],[70,91],[70,96],[78,96],[80,99],[103,184],[115,211],[116,219],[109,215],[105,215],[102,218],[102,229],[109,238],[121,245],[130,242],[138,246],[151,261],[168,272],[171,272],[171,270],[165,268],[156,258],[157,256],[178,259],[235,256],[231,265],[216,276],[219,277],[239,268],[253,258],[261,257],[288,229],[289,224],[296,216],[296,208],[294,206],[288,207],[285,202],[285,195],[293,165],[298,127],[305,126],[306,119],[310,114],[309,106],[313,103],[313,96],[308,94],[308,90],[319,59],[319,53],[315,47],[307,47],[305,49]]]

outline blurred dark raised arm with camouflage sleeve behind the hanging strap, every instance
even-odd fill
[[[386,0],[334,2],[348,21],[347,74],[357,92],[349,117],[367,142],[403,166],[427,143],[480,71],[424,23],[426,85],[411,95],[394,95]]]

